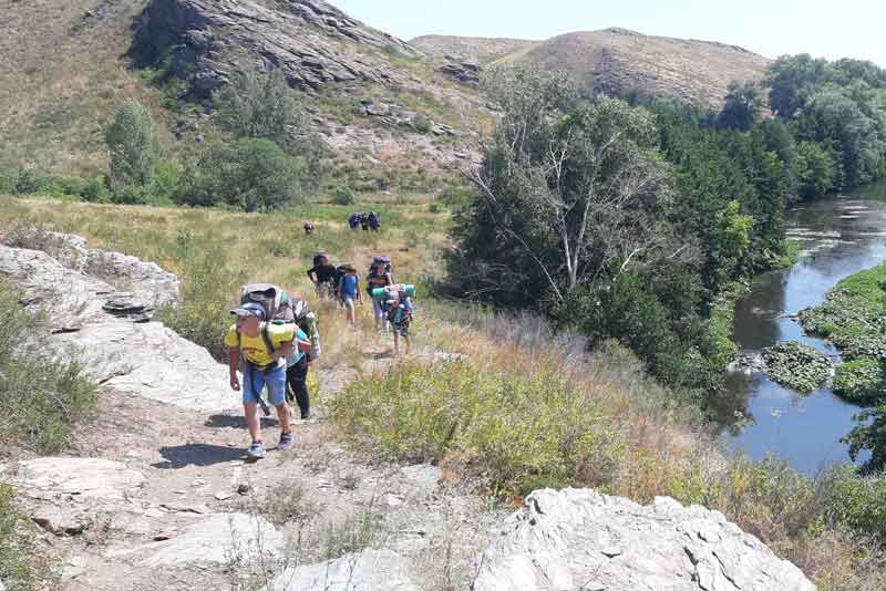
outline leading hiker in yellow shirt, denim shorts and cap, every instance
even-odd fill
[[[247,455],[253,459],[265,457],[261,444],[261,424],[258,419],[258,402],[261,390],[268,388],[268,400],[277,408],[280,421],[278,449],[292,447],[289,424],[289,407],[286,404],[286,370],[288,360],[297,363],[310,351],[311,343],[296,324],[264,322],[265,309],[258,303],[245,303],[230,311],[237,321],[228,329],[225,344],[228,348],[230,387],[240,390],[237,370],[243,372],[243,406],[246,426],[253,443]]]

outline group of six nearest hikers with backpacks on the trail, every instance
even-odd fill
[[[349,324],[354,326],[356,305],[363,303],[357,268],[350,263],[336,267],[326,252],[318,252],[313,267],[308,269],[308,278],[315,283],[318,297],[338,303]],[[411,298],[415,288],[394,283],[391,259],[379,255],[369,267],[365,291],[372,301],[375,329],[393,332],[394,355],[400,354],[401,339],[409,353]],[[244,286],[240,304],[230,313],[236,317],[225,338],[230,387],[243,391],[246,425],[251,437],[247,456],[259,459],[265,456],[259,406],[266,415],[270,414],[261,397],[264,390],[280,423],[278,449],[292,447],[290,405],[298,406],[302,419],[311,416],[307,379],[311,362],[321,353],[317,315],[305,300],[290,298],[282,288],[269,283]]]

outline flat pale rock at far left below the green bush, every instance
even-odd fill
[[[82,457],[40,457],[19,462],[18,479],[25,489],[104,500],[123,500],[145,481],[142,473],[120,462]]]

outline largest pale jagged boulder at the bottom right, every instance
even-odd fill
[[[722,514],[641,506],[588,489],[536,490],[484,553],[474,591],[814,591]]]

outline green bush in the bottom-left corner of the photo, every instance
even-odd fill
[[[35,588],[30,527],[28,517],[16,505],[16,489],[0,484],[0,581],[11,591]]]

